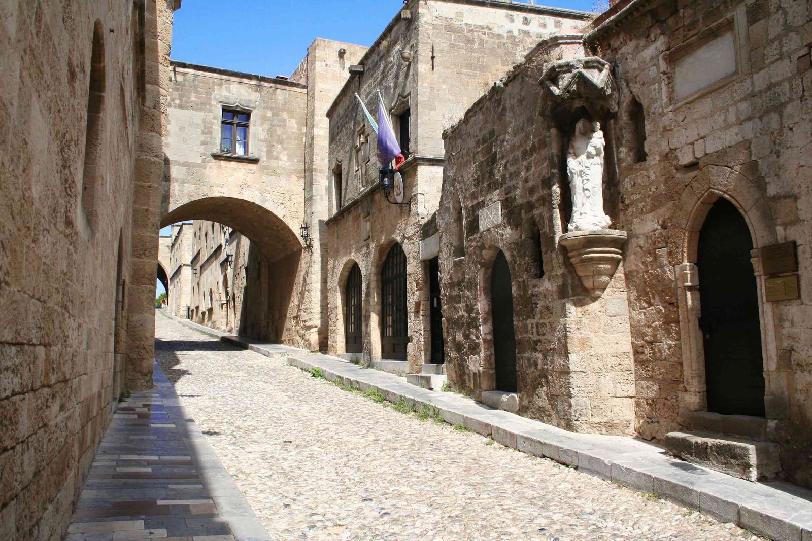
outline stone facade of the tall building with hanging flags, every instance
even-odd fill
[[[327,350],[346,354],[344,290],[352,265],[360,266],[363,353],[350,356],[378,363],[382,358],[380,274],[389,251],[400,244],[407,268],[403,304],[408,344],[406,354],[387,364],[387,369],[420,372],[422,364],[430,362],[431,344],[430,268],[421,259],[419,243],[423,225],[439,204],[443,127],[460,118],[542,37],[573,32],[588,15],[527,4],[452,0],[412,1],[404,9],[361,58],[362,73],[352,75],[327,112],[332,178],[329,213],[321,215],[329,241],[322,248],[327,272],[322,295],[330,314]],[[357,93],[374,114],[378,89],[399,136],[400,122],[409,122],[409,156],[400,173],[404,200],[411,200],[410,206],[387,203],[378,184],[375,134],[355,97]],[[401,116],[405,111],[408,121]]]

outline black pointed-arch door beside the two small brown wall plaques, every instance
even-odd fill
[[[764,363],[753,241],[744,217],[719,198],[699,232],[708,411],[764,416]]]

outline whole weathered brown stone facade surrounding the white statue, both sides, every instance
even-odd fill
[[[808,2],[619,2],[583,42],[543,41],[446,132],[437,219],[456,389],[495,389],[488,288],[501,250],[520,414],[647,440],[681,429],[772,440],[788,478],[812,484],[810,343],[800,330],[810,302],[809,10]],[[597,296],[559,244],[570,212],[565,150],[578,118],[602,124],[604,208],[611,228],[628,235]],[[720,200],[746,222],[754,249],[762,418],[706,412],[703,333],[713,331],[700,328],[699,296],[711,285],[698,280],[698,244]],[[497,204],[499,220],[483,214]],[[800,273],[771,274],[770,247],[792,241]],[[776,279],[795,276],[798,298],[767,300]]]

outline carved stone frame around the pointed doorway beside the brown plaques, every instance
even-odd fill
[[[693,412],[707,410],[705,352],[699,328],[701,301],[697,251],[699,232],[711,206],[723,197],[745,218],[753,240],[752,261],[758,293],[758,316],[761,324],[762,359],[764,362],[765,409],[767,419],[785,419],[792,392],[791,382],[782,375],[779,361],[780,335],[778,315],[772,303],[764,301],[764,276],[759,248],[778,242],[775,223],[767,202],[754,182],[743,174],[721,165],[706,165],[685,187],[669,225],[669,251],[676,276],[677,307],[680,316],[683,383],[679,392],[678,421],[691,425]],[[676,255],[676,258],[674,257]]]

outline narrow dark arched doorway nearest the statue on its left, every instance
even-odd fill
[[[516,393],[516,332],[513,329],[513,290],[508,258],[496,255],[490,275],[490,310],[494,325],[496,389]]]

